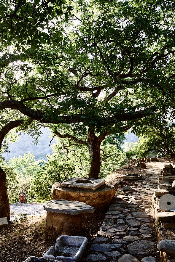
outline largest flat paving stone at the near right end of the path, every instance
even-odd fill
[[[150,254],[150,250],[154,249],[154,242],[140,240],[129,244],[127,247],[131,255],[137,255],[140,258],[143,258]]]

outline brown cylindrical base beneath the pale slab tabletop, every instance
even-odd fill
[[[82,215],[47,212],[44,226],[45,238],[57,239],[61,235],[77,236],[82,231]]]

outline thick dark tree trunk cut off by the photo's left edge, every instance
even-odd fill
[[[0,218],[7,217],[9,223],[10,220],[10,206],[9,198],[7,195],[7,184],[6,184],[6,174],[0,167]]]

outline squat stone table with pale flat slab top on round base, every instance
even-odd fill
[[[44,235],[55,239],[60,235],[76,236],[82,232],[82,214],[94,213],[90,205],[64,199],[47,201],[44,210],[47,211]]]

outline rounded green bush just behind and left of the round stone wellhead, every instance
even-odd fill
[[[49,161],[32,179],[31,195],[34,195],[34,199],[38,202],[50,200],[52,185],[74,176],[74,171],[74,166],[71,164],[61,164],[58,160]]]

